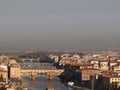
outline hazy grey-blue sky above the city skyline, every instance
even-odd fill
[[[0,0],[0,49],[120,48],[120,0]]]

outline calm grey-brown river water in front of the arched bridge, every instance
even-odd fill
[[[45,90],[46,87],[54,87],[55,90],[71,90],[62,84],[58,77],[52,80],[47,80],[46,77],[38,76],[35,80],[30,80],[29,77],[22,77],[23,85],[28,88],[28,90]]]

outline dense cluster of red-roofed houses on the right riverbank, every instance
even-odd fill
[[[79,83],[87,85],[94,77],[94,85],[104,90],[112,90],[120,87],[120,54],[112,51],[97,54],[63,54],[61,56],[50,55],[57,58],[59,65],[67,66],[65,69],[72,72]],[[58,59],[59,58],[59,59]],[[98,84],[97,84],[98,83]],[[97,89],[98,90],[98,89]]]

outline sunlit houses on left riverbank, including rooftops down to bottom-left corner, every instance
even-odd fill
[[[18,79],[21,73],[21,66],[16,60],[8,56],[0,56],[0,90],[14,90],[13,85],[8,84],[10,78]],[[13,88],[13,89],[12,89]]]

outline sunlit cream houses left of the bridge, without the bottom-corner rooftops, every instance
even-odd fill
[[[0,76],[6,78],[18,78],[21,73],[21,66],[15,60],[7,56],[0,56]]]

